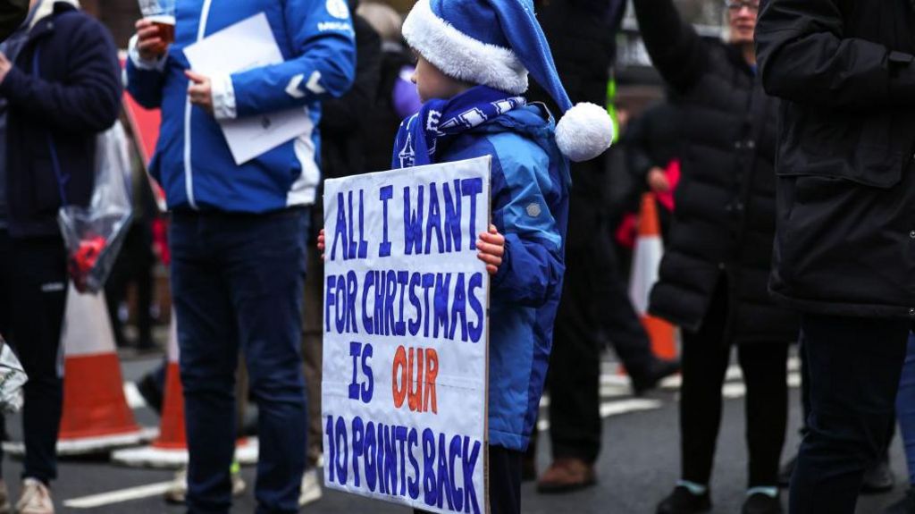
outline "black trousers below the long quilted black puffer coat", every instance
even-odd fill
[[[708,484],[721,426],[721,388],[730,362],[727,284],[722,280],[699,331],[683,333],[680,391],[682,477]],[[781,447],[788,423],[788,342],[737,347],[747,386],[748,487],[778,485]],[[825,511],[824,511],[825,512]]]

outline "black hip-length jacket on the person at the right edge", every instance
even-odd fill
[[[770,0],[757,43],[766,89],[784,99],[773,294],[915,319],[910,2]]]

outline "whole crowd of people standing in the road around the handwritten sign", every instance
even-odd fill
[[[124,90],[161,112],[148,171],[168,213],[135,163],[109,309],[125,345],[135,282],[136,346],[154,348],[150,269],[167,254],[190,456],[169,498],[188,512],[228,512],[243,490],[248,401],[258,512],[320,498],[322,180],[480,155],[493,157],[477,241],[491,275],[490,512],[520,513],[522,480],[544,494],[597,484],[608,347],[635,394],[683,377],[680,479],[658,514],[712,508],[735,348],[743,514],[782,512],[786,486],[792,514],[854,513],[859,491],[892,487],[897,419],[915,484],[915,3],[727,0],[723,39],[700,37],[673,0],[631,5],[665,90],[634,119],[612,94],[623,0],[419,0],[405,18],[368,0],[177,0],[174,39],[138,20],[124,70],[77,0],[0,0],[0,334],[29,376],[16,512],[54,512],[70,280],[56,218],[90,201],[95,138]],[[283,62],[193,69],[186,48],[261,13]],[[235,158],[221,123],[293,107],[303,134]],[[652,352],[627,293],[643,191],[666,245],[649,310],[680,328],[680,359]],[[795,343],[803,439],[780,468]],[[154,407],[164,369],[140,383]],[[549,406],[538,470],[544,392],[565,401]],[[11,509],[0,481],[0,514]],[[906,513],[915,487],[887,510]]]

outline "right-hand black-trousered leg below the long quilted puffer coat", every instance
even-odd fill
[[[788,424],[788,343],[748,344],[737,353],[747,385],[748,488],[774,496]]]

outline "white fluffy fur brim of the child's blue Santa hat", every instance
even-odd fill
[[[404,39],[447,76],[511,94],[527,91],[527,70],[510,48],[469,37],[419,0],[404,21]]]

